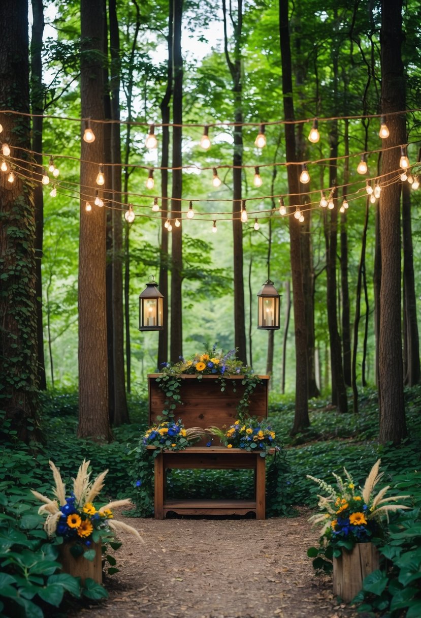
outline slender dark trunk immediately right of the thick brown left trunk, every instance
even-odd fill
[[[110,54],[111,54],[111,124],[112,190],[114,200],[122,201],[121,138],[120,138],[120,38],[116,0],[109,0]],[[114,425],[128,423],[124,375],[123,330],[123,225],[119,208],[112,211],[112,333],[114,373]]]

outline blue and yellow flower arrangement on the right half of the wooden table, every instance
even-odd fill
[[[275,431],[272,431],[269,425],[263,425],[256,417],[240,416],[228,429],[211,427],[207,431],[218,436],[227,449],[235,447],[244,451],[259,450],[262,451],[262,457],[265,457],[270,449],[279,450],[275,442]]]

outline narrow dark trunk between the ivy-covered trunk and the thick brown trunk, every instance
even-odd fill
[[[44,8],[43,0],[32,0],[32,32],[31,32],[31,104],[32,104],[32,150],[33,159],[38,174],[42,174],[43,167],[43,113],[44,113],[44,86],[43,86],[43,50]],[[41,277],[41,261],[43,259],[43,231],[44,231],[44,198],[43,185],[36,182],[33,190],[35,206],[35,293],[36,293],[36,332],[38,337],[38,388],[45,391],[47,387],[44,360],[44,332],[43,332],[43,283]]]

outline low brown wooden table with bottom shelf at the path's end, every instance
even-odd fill
[[[148,446],[148,449],[155,447]],[[246,515],[251,512],[256,514],[256,519],[265,519],[265,457],[260,453],[225,446],[188,446],[184,451],[161,451],[155,458],[155,519],[164,519],[170,511],[178,515]],[[254,499],[167,499],[165,471],[169,468],[254,470]]]

